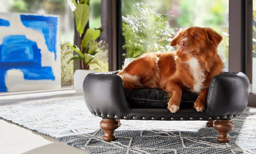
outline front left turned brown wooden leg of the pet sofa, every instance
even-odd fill
[[[99,123],[101,129],[105,131],[102,139],[104,141],[114,141],[116,137],[114,136],[114,130],[118,128],[119,123],[117,119],[103,119]]]

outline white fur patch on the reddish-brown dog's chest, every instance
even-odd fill
[[[194,76],[194,87],[191,91],[199,93],[203,89],[204,71],[195,57],[187,61],[187,64],[189,64],[190,73]]]

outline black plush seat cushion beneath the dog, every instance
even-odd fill
[[[131,108],[167,108],[168,93],[160,88],[124,89],[127,102]],[[182,90],[180,108],[193,108],[198,93]]]

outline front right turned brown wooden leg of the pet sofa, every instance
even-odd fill
[[[213,124],[214,128],[219,131],[219,137],[217,140],[221,143],[227,143],[230,141],[228,132],[234,128],[234,124],[229,120],[216,120]]]

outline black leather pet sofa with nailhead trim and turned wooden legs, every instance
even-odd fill
[[[219,142],[229,142],[228,132],[233,129],[232,118],[240,116],[248,103],[249,80],[241,72],[225,72],[210,83],[203,112],[193,108],[196,93],[182,91],[180,110],[167,109],[166,92],[158,88],[123,88],[118,71],[90,73],[83,83],[86,106],[95,116],[102,117],[105,141],[115,140],[114,130],[119,119],[125,120],[203,120],[219,131]]]

